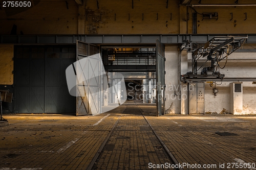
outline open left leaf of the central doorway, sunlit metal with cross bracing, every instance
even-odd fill
[[[102,68],[100,64],[99,46],[77,40],[76,54],[76,115],[100,113],[100,84],[102,80],[99,75],[101,74]]]

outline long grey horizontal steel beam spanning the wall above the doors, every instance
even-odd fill
[[[165,44],[186,42],[205,43],[216,36],[227,34],[150,34],[150,35],[0,35],[5,44],[75,44],[76,40],[94,44]],[[233,35],[236,36],[236,35]],[[246,34],[246,43],[256,43],[256,34]]]

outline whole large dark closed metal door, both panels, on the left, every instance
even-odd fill
[[[74,113],[65,70],[75,61],[75,46],[16,46],[14,112]]]

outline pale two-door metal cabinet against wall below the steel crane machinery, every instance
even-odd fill
[[[188,114],[204,114],[204,83],[188,85]]]

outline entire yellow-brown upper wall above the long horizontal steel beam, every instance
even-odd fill
[[[235,0],[206,1],[202,4],[234,4]],[[36,2],[39,2],[36,4]],[[68,7],[67,4],[68,3]],[[0,10],[0,35],[9,35],[13,24],[17,34],[191,34],[193,12],[198,34],[255,34],[256,6],[188,7],[179,0],[33,0],[29,9]],[[98,2],[98,4],[97,4]],[[133,2],[133,8],[132,8]],[[190,4],[198,4],[192,0]],[[239,4],[256,4],[239,0]],[[218,12],[219,19],[204,19],[202,13]],[[16,13],[16,14],[15,14]],[[233,18],[231,19],[231,14]],[[245,20],[245,13],[247,19]],[[172,17],[171,17],[172,14]],[[130,17],[129,17],[130,15]]]

